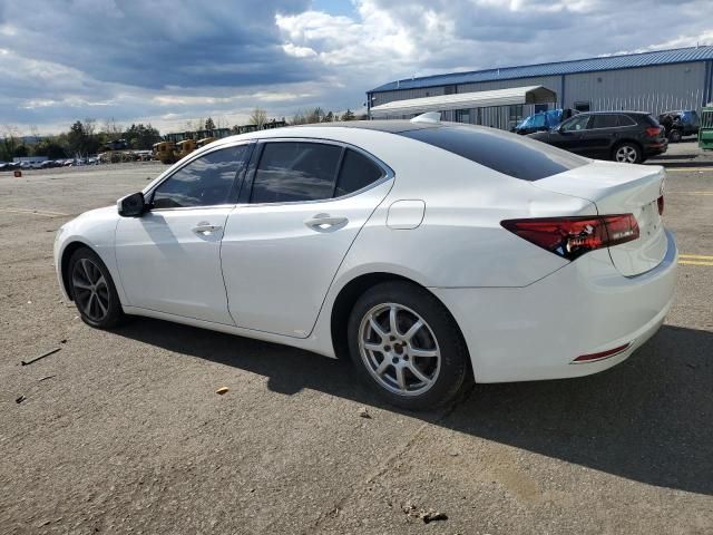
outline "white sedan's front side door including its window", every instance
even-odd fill
[[[147,213],[120,218],[116,257],[130,307],[234,324],[221,240],[251,149],[242,144],[191,159],[146,193]]]

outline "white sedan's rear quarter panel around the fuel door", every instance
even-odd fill
[[[500,221],[596,213],[588,201],[544,192],[424,143],[370,134],[358,144],[391,166],[394,185],[349,251],[336,286],[379,271],[424,286],[524,286],[567,262]],[[411,230],[388,227],[389,207],[403,200],[423,201],[423,221]]]

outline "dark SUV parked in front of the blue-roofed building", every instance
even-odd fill
[[[668,146],[664,128],[644,111],[579,114],[529,137],[583,156],[628,164],[665,153]]]

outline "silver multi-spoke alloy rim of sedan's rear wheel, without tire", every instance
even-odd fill
[[[400,396],[422,395],[441,369],[440,349],[429,324],[397,303],[379,304],[364,314],[359,351],[377,382]]]

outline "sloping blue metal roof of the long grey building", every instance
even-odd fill
[[[526,65],[522,67],[501,67],[499,69],[473,70],[470,72],[451,72],[447,75],[423,76],[406,80],[390,81],[369,93],[393,91],[397,89],[417,89],[421,87],[447,86],[452,84],[471,84],[477,81],[511,80],[534,76],[558,76],[575,72],[593,72],[598,70],[631,69],[654,65],[685,64],[713,59],[713,46],[676,48],[653,52],[626,54],[553,64]]]

